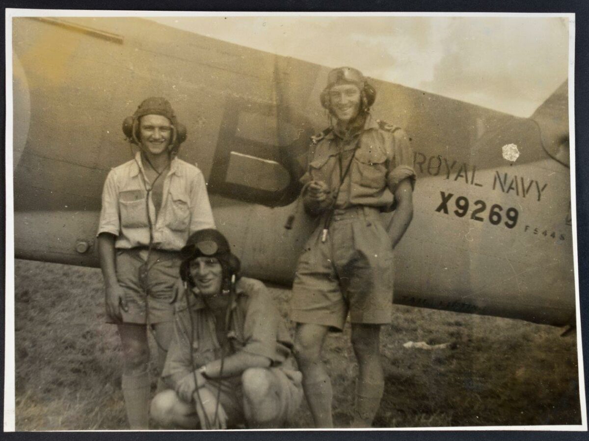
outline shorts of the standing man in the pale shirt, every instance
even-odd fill
[[[118,283],[125,291],[128,311],[121,308],[124,323],[162,323],[174,321],[174,286],[180,277],[180,254],[151,250],[147,277],[139,270],[147,258],[145,249],[117,249]],[[112,322],[109,322],[112,323]]]

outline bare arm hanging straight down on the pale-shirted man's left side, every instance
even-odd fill
[[[117,269],[115,265],[115,236],[111,233],[98,235],[98,256],[100,256],[100,268],[104,277],[105,303],[107,315],[115,321],[121,320],[122,307],[128,310],[123,289],[118,284]]]

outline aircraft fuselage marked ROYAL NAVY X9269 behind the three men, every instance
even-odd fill
[[[14,18],[13,47],[17,258],[98,266],[102,185],[132,155],[121,123],[165,96],[244,273],[292,282],[313,220],[299,207],[283,225],[327,126],[328,68],[135,18]],[[394,302],[574,323],[567,83],[517,118],[372,82],[373,115],[406,129],[418,173]]]

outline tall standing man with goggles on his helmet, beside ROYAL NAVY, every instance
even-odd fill
[[[321,360],[348,313],[359,364],[352,427],[370,427],[382,398],[380,326],[391,322],[393,249],[413,216],[415,171],[406,133],[375,121],[376,91],[353,68],[333,69],[321,94],[333,125],[313,137],[301,196],[319,217],[299,259],[290,318],[316,427],[332,427],[332,387]],[[388,228],[380,212],[395,210]]]

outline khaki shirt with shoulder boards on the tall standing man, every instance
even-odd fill
[[[327,198],[321,207],[312,207],[307,206],[309,202],[304,198],[306,186],[303,187],[303,201],[312,211],[330,206],[340,185],[340,174],[345,172],[351,155],[352,163],[337,195],[335,208],[362,205],[391,211],[395,208],[393,193],[399,182],[410,178],[413,184],[416,178],[407,133],[375,121],[370,115],[363,129],[352,136],[346,138],[332,130],[312,147],[309,167],[300,181],[305,185],[311,181],[325,181],[331,191],[331,198]]]

